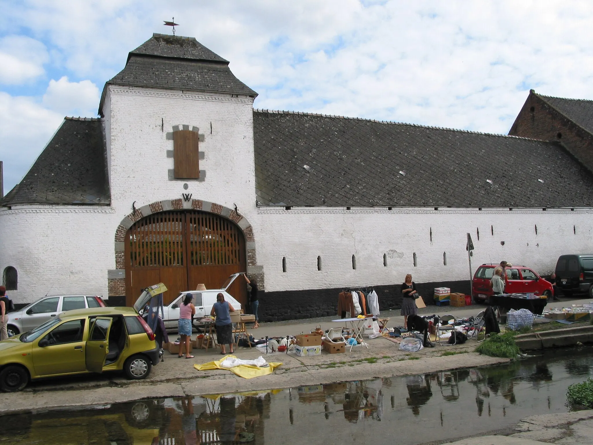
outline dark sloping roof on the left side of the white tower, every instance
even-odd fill
[[[100,119],[66,117],[0,205],[110,204],[102,126]]]

